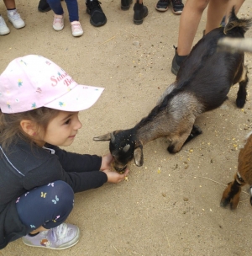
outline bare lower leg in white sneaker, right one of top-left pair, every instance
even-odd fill
[[[3,0],[3,2],[7,8],[8,20],[13,24],[14,28],[24,28],[25,23],[16,9],[15,0]]]

